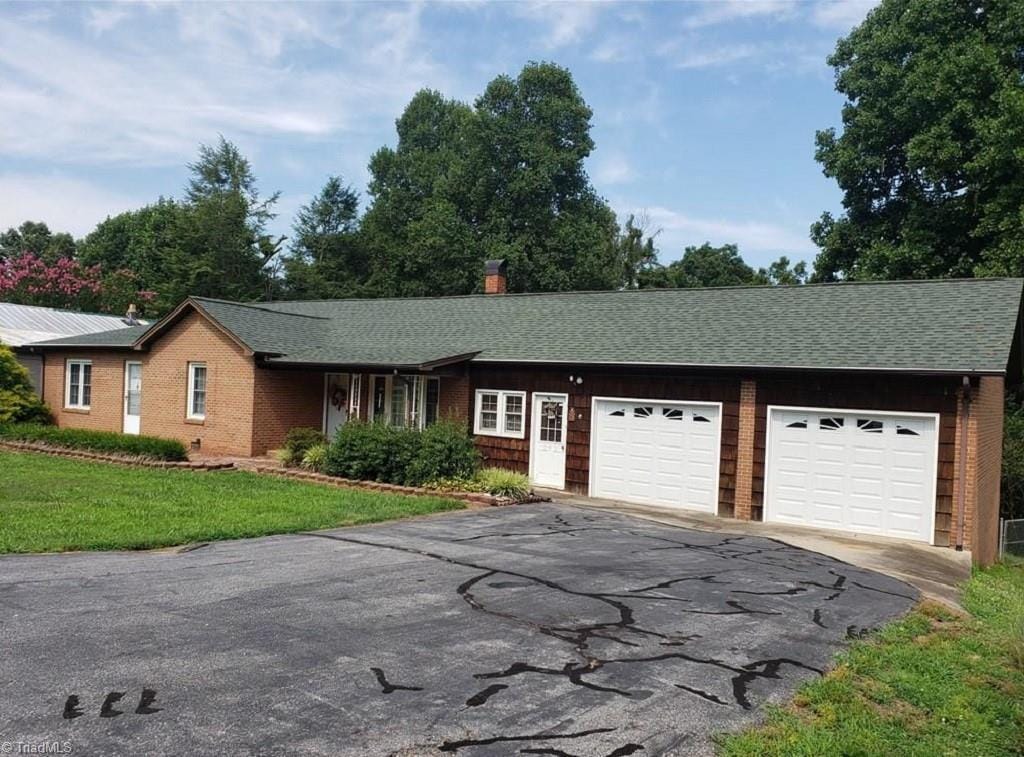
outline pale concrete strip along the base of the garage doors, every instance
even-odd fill
[[[915,587],[924,596],[957,609],[963,609],[959,585],[971,577],[970,552],[885,537],[764,523],[759,520],[736,520],[688,510],[582,497],[557,490],[537,491],[554,502],[618,512],[667,525],[776,539],[898,578]]]

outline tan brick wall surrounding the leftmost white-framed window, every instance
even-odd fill
[[[47,352],[43,364],[43,399],[53,411],[58,426],[120,431],[124,423],[125,361],[133,352]],[[92,361],[92,398],[88,410],[63,406],[65,367],[69,360]]]

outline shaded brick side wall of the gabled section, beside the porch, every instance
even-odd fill
[[[257,368],[253,397],[252,454],[276,450],[297,426],[323,428],[324,374]]]

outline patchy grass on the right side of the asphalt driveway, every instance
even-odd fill
[[[921,603],[719,753],[1024,754],[1024,567],[976,571],[962,616]]]

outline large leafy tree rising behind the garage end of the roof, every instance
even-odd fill
[[[816,280],[1024,274],[1022,49],[1016,0],[883,0],[840,40]]]

